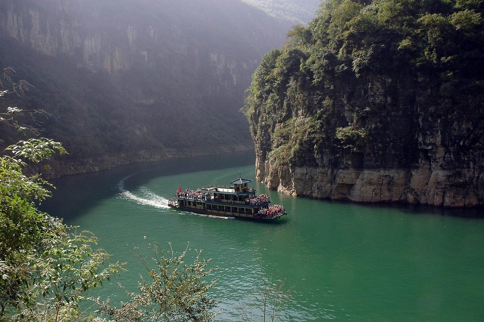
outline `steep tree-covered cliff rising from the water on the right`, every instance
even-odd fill
[[[257,179],[318,198],[482,206],[483,10],[326,1],[254,73]]]

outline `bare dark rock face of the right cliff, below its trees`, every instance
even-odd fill
[[[372,133],[365,148],[357,152],[342,150],[335,148],[335,140],[328,140],[319,146],[303,145],[290,162],[273,166],[268,158],[271,150],[257,145],[257,179],[280,192],[314,198],[483,206],[482,117],[472,119],[468,111],[452,118],[444,115],[444,111],[459,113],[455,101],[439,100],[442,105],[437,105],[434,96],[419,90],[429,88],[424,81],[413,84],[412,89],[397,85],[396,93],[389,89],[391,83],[383,76],[375,77],[363,86],[366,88],[361,92],[366,95],[353,99],[343,95],[335,102],[339,118],[348,123],[353,122],[356,111],[364,109],[362,101],[370,102],[370,108],[385,109],[378,116],[367,116],[365,125]],[[347,88],[341,88],[341,93],[347,93]],[[414,101],[412,106],[402,99],[408,95]],[[318,102],[317,97],[312,99]],[[471,103],[469,110],[482,107],[483,101],[478,100]],[[311,122],[309,117],[299,118],[300,123]]]

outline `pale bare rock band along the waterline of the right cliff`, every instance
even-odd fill
[[[282,193],[361,203],[410,203],[444,207],[484,205],[482,170],[444,168],[442,160],[420,158],[411,169],[361,169],[351,157],[331,167],[330,155],[317,165],[273,168],[257,157],[257,180]]]

